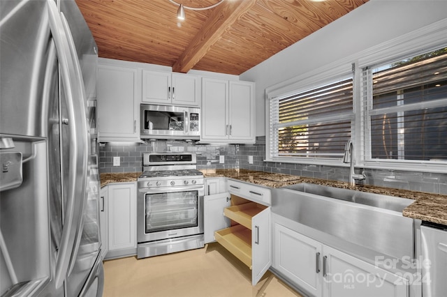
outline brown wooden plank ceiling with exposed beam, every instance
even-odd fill
[[[219,0],[177,0],[203,8]],[[208,10],[169,0],[76,0],[109,59],[240,75],[368,0],[224,0]]]

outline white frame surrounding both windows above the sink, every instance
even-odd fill
[[[318,86],[327,84],[354,70],[353,77],[353,111],[354,119],[351,121],[351,139],[355,146],[356,167],[371,169],[397,169],[416,170],[420,172],[447,173],[446,161],[423,160],[374,160],[366,155],[369,139],[366,135],[368,128],[368,115],[365,113],[365,89],[363,85],[362,70],[388,62],[404,59],[437,50],[447,45],[447,19],[435,22],[416,31],[407,33],[398,38],[388,40],[386,43],[370,47],[344,59],[330,63],[309,73],[299,75],[265,89],[265,161],[285,162],[312,165],[349,166],[342,160],[328,160],[326,158],[280,158],[272,157],[270,150],[270,100],[277,97],[291,96]],[[372,90],[371,90],[372,91]],[[372,92],[370,92],[372,94]],[[372,95],[371,95],[372,96]]]

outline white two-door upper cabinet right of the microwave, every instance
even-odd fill
[[[254,83],[202,79],[203,142],[255,142]]]

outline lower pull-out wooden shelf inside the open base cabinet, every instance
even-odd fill
[[[251,269],[251,230],[237,224],[214,232],[214,238],[223,248],[235,255]]]

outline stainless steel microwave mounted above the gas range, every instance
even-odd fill
[[[140,105],[142,139],[199,139],[200,108]]]

